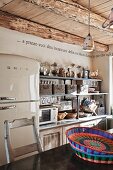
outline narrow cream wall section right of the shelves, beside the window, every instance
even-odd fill
[[[99,75],[103,79],[102,91],[108,92],[106,96],[107,112],[111,113],[111,106],[113,105],[113,45],[109,46],[108,52],[94,52],[93,53],[93,70],[98,69]]]

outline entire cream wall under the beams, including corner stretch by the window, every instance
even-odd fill
[[[62,51],[58,51],[58,48]],[[22,55],[29,58],[34,58],[40,62],[57,62],[62,65],[74,63],[76,65],[88,67],[91,70],[98,69],[99,74],[103,79],[102,91],[108,92],[109,94],[111,93],[110,56],[113,56],[112,45],[107,53],[94,52],[94,57],[92,59],[89,54],[83,52],[82,47],[80,46],[43,39],[0,27],[0,55],[1,54]],[[108,95],[108,112],[110,112],[110,107],[112,104],[113,99],[110,99],[110,95]]]

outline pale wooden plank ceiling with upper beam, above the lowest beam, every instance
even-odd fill
[[[91,0],[91,35],[97,45],[105,45],[102,51],[107,51],[106,45],[113,44],[113,30],[102,28],[112,7],[113,0]],[[88,34],[88,0],[0,0],[0,10],[71,36],[83,39]],[[3,18],[0,26],[5,27],[2,22]]]

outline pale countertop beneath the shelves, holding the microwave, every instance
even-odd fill
[[[56,128],[56,127],[72,125],[72,124],[84,123],[84,122],[97,120],[97,119],[101,119],[101,118],[106,118],[106,117],[107,117],[107,115],[90,116],[90,117],[84,117],[84,118],[79,118],[79,119],[63,119],[61,121],[57,121],[56,123],[41,125],[39,129],[40,130],[51,129],[51,128]]]

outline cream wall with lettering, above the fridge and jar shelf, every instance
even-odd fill
[[[48,45],[52,49],[48,48]],[[58,51],[58,48],[62,51]],[[41,62],[57,62],[65,65],[75,63],[92,68],[91,57],[83,52],[80,46],[42,39],[3,27],[0,27],[0,53],[22,55]]]

